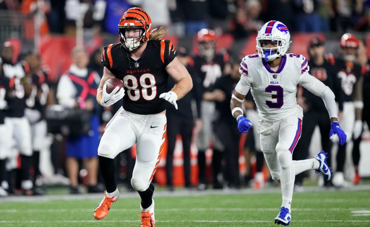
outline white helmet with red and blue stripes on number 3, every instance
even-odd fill
[[[262,47],[263,40],[276,41],[277,47]],[[271,20],[264,24],[258,31],[256,43],[259,56],[264,58],[265,61],[273,61],[279,56],[284,56],[292,41],[290,41],[290,32],[285,24],[280,21]],[[273,51],[275,49],[276,51]]]

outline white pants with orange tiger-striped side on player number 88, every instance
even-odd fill
[[[166,122],[165,114],[139,115],[121,107],[105,128],[98,155],[114,159],[137,143],[131,185],[135,190],[145,191],[161,159]]]

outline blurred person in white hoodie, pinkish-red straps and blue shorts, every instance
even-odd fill
[[[68,108],[80,108],[92,112],[91,130],[88,135],[69,135],[67,139],[67,171],[71,181],[71,194],[78,194],[78,160],[83,159],[88,173],[88,192],[97,192],[98,146],[100,106],[95,102],[100,77],[97,72],[87,68],[88,54],[83,48],[72,51],[69,70],[61,76],[57,87],[57,99],[60,105]]]

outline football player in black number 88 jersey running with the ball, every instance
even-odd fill
[[[118,24],[120,43],[110,44],[102,52],[104,74],[97,101],[105,107],[122,98],[123,102],[108,122],[98,148],[106,187],[104,198],[94,212],[98,220],[107,216],[111,204],[119,197],[114,180],[115,156],[137,143],[131,185],[141,197],[141,226],[155,226],[151,181],[164,148],[166,101],[177,109],[176,100],[191,90],[192,79],[176,58],[171,41],[161,40],[165,30],[153,32],[151,26],[151,19],[143,9],[128,9]],[[166,92],[168,76],[176,85]],[[118,91],[116,87],[108,94],[104,83],[110,78],[121,79],[124,88]]]

